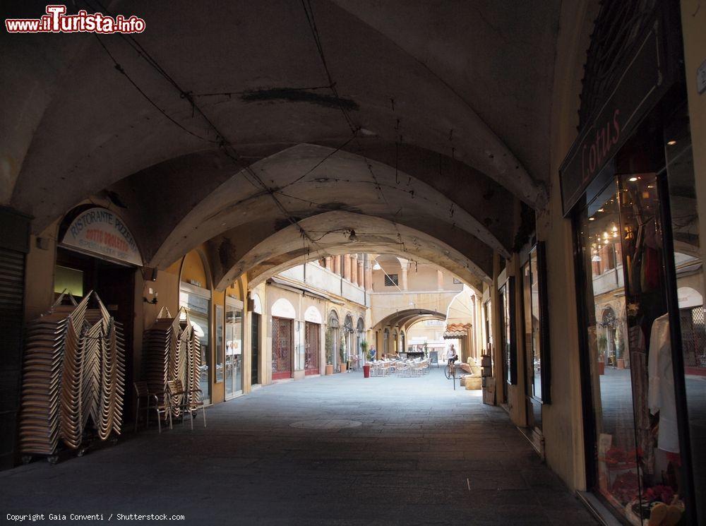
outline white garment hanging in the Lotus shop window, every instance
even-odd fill
[[[679,434],[676,424],[674,371],[671,361],[669,316],[659,316],[652,323],[650,354],[647,363],[650,386],[647,405],[651,414],[659,412],[657,448],[671,453],[679,452]]]

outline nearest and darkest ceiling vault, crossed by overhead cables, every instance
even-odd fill
[[[16,3],[6,16],[40,16],[45,5]],[[388,174],[395,167],[399,182],[388,193],[404,193],[400,172],[418,188],[431,186],[457,207],[448,224],[507,249],[513,218],[503,211],[517,199],[535,208],[546,201],[558,0],[513,9],[492,2],[311,6],[340,100],[323,88],[328,80],[298,1],[217,8],[112,2],[114,13],[147,21],[136,40],[171,80],[118,35],[102,42],[126,75],[92,35],[3,33],[8,89],[0,111],[13,133],[1,139],[0,204],[35,217],[33,230],[41,232],[84,198],[117,188],[131,224],[159,231],[145,235],[151,257],[184,219],[181,210],[244,166],[307,143],[378,160]],[[265,193],[277,186],[263,180]]]

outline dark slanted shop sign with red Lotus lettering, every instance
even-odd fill
[[[592,114],[559,168],[567,215],[592,179],[613,158],[647,112],[671,86],[665,35],[659,16],[638,42],[603,104]],[[621,67],[622,66],[622,67]]]

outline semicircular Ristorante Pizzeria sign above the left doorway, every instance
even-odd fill
[[[142,256],[130,229],[106,208],[89,208],[68,225],[61,246],[94,256],[142,266]]]

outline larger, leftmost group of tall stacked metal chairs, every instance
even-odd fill
[[[125,365],[122,328],[89,292],[61,302],[28,325],[23,363],[20,450],[56,460],[60,442],[79,449],[87,436],[120,434]],[[88,309],[94,298],[96,309]]]

